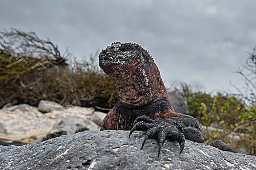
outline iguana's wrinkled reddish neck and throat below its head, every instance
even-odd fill
[[[150,68],[130,70],[124,67],[116,76],[117,96],[120,102],[130,106],[141,106],[163,99],[170,101],[171,104],[160,72],[153,61]]]

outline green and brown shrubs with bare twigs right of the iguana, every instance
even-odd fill
[[[175,89],[187,101],[189,115],[205,125],[206,144],[219,139],[234,149],[246,148],[245,153],[256,155],[256,47],[235,73],[244,81],[243,89],[230,83],[237,93],[213,95],[184,83]]]

